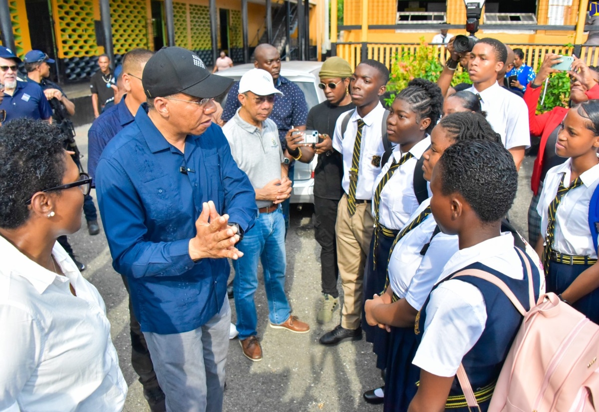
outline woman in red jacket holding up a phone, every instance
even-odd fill
[[[541,228],[541,218],[537,213],[537,204],[539,195],[543,187],[543,180],[547,170],[553,166],[565,162],[565,157],[555,155],[555,141],[557,139],[559,125],[568,108],[554,107],[543,114],[536,114],[537,103],[541,95],[545,79],[551,73],[558,73],[559,70],[552,69],[551,66],[561,62],[558,54],[547,53],[545,59],[539,68],[537,77],[531,81],[526,92],[524,92],[524,101],[528,106],[528,124],[530,134],[540,136],[539,154],[534,160],[533,175],[531,177],[531,189],[533,189],[533,199],[528,208],[528,239],[531,244],[537,244]],[[574,59],[570,73],[570,105],[576,105],[591,99],[599,99],[599,67],[587,66],[580,59]]]

